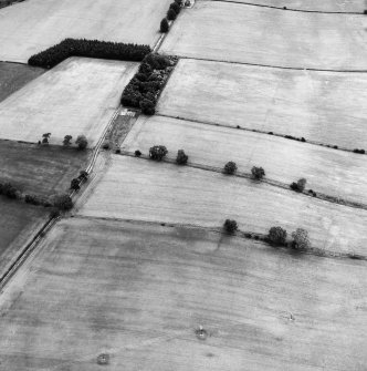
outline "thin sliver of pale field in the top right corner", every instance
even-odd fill
[[[232,0],[221,0],[232,1]],[[366,0],[235,0],[235,2],[252,3],[256,6],[276,7],[305,11],[363,13]]]

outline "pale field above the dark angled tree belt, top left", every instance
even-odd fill
[[[154,45],[170,2],[32,0],[1,9],[0,60],[27,62],[66,38]]]

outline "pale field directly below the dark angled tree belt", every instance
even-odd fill
[[[31,3],[31,1],[30,1]],[[94,146],[138,63],[71,58],[0,104],[1,138],[51,144],[84,134]]]

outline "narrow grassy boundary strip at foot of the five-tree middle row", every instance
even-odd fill
[[[136,156],[135,153],[129,152],[129,151],[124,151],[124,150],[120,150],[119,155],[128,156],[128,157],[136,157],[136,158],[145,159],[145,161],[151,161],[148,155],[141,154],[139,156]],[[168,163],[168,164],[176,164],[176,161],[174,158],[167,158],[167,157],[162,158],[161,162],[162,163]],[[223,169],[221,167],[217,167],[217,166],[210,166],[210,165],[198,164],[198,163],[192,163],[192,162],[188,162],[185,166],[192,167],[192,168],[198,168],[198,169],[206,171],[206,172],[223,174]],[[355,202],[352,202],[352,200],[348,200],[348,199],[334,197],[334,196],[326,195],[326,194],[318,193],[318,192],[315,195],[315,193],[311,194],[307,190],[304,190],[304,192],[291,190],[290,185],[286,184],[286,183],[274,181],[274,179],[269,179],[269,178],[263,178],[263,179],[259,179],[259,181],[253,179],[252,174],[245,173],[245,172],[237,172],[235,174],[229,175],[229,176],[250,179],[254,183],[265,183],[265,184],[269,184],[270,186],[273,186],[273,187],[290,190],[290,192],[292,192],[296,195],[298,194],[298,195],[302,195],[302,196],[305,196],[305,197],[317,198],[317,199],[321,199],[323,202],[337,204],[337,205],[342,205],[342,206],[345,206],[345,207],[359,208],[359,209],[367,210],[367,205],[363,204],[363,203],[355,203]]]

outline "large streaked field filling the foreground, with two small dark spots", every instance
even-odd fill
[[[63,220],[1,296],[1,365],[99,370],[105,353],[116,371],[361,371],[366,285],[360,261],[203,230]]]

